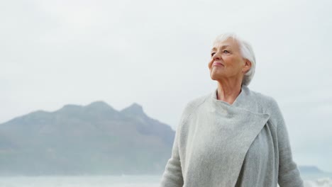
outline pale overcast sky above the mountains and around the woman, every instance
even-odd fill
[[[216,88],[224,32],[253,45],[249,88],[274,97],[297,164],[332,171],[332,1],[1,1],[0,123],[36,110],[132,103],[176,128]]]

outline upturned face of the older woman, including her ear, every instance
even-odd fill
[[[238,42],[233,38],[216,42],[211,50],[209,69],[213,80],[239,79],[242,81],[243,74],[248,68],[245,68],[245,59],[240,54]]]

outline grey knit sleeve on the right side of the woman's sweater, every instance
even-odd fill
[[[297,164],[292,158],[292,149],[289,142],[289,134],[284,118],[277,102],[273,99],[273,115],[275,115],[275,125],[277,126],[277,140],[279,149],[279,175],[278,183],[280,187],[303,187]]]

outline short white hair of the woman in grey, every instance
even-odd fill
[[[233,40],[236,40],[238,42],[242,57],[251,62],[251,68],[247,73],[244,74],[242,80],[242,84],[248,86],[250,84],[251,79],[253,79],[256,67],[256,60],[255,60],[255,54],[253,52],[253,47],[251,47],[250,43],[239,38],[238,35],[236,35],[236,33],[223,33],[221,35],[218,35],[216,37],[216,40],[214,40],[214,44],[216,44],[216,42],[223,42],[228,38],[232,38]]]

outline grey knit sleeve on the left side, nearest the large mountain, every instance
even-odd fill
[[[178,146],[178,137],[179,137],[179,125],[177,131],[175,132],[175,140],[172,147],[172,156],[168,159],[165,166],[164,174],[162,174],[162,179],[160,187],[179,187],[183,186],[182,178],[182,168],[181,161],[179,158],[179,146]]]

